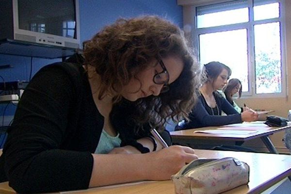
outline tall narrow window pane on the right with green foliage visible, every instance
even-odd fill
[[[256,93],[281,92],[280,23],[254,26]]]

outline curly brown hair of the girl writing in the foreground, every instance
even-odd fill
[[[170,84],[170,90],[135,101],[132,116],[137,124],[150,123],[153,127],[162,126],[168,118],[175,121],[188,118],[197,100],[202,68],[176,25],[158,16],[121,18],[84,45],[85,64],[94,66],[101,77],[99,98],[110,89],[118,94],[151,60],[168,56],[181,58],[183,70]],[[117,96],[114,102],[120,99]]]

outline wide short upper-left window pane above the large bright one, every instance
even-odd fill
[[[233,9],[197,16],[197,28],[237,24],[248,20],[248,8]]]

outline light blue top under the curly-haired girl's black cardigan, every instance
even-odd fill
[[[113,137],[103,129],[95,154],[108,154],[113,148],[120,147],[120,144],[121,139],[119,138],[119,133]]]

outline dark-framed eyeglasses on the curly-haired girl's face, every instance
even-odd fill
[[[162,60],[160,60],[160,65],[162,67],[162,72],[154,75],[153,81],[156,84],[163,84],[160,93],[164,93],[170,90],[170,86],[169,86],[170,76]]]

